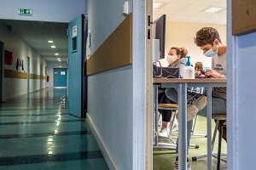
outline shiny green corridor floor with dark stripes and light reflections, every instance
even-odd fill
[[[64,96],[66,88],[46,88],[0,105],[0,169],[108,169],[85,119],[68,114]]]

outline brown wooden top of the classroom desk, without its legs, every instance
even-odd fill
[[[188,83],[226,83],[226,78],[195,78],[195,79],[183,79],[183,78],[153,78],[154,83],[165,83],[165,82],[188,82]]]

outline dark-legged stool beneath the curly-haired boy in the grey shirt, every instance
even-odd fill
[[[220,169],[220,161],[224,161],[227,162],[226,160],[222,159],[221,156],[227,156],[227,154],[221,154],[221,143],[222,143],[222,134],[223,134],[223,127],[226,126],[226,122],[222,122],[222,121],[226,121],[227,120],[227,116],[225,115],[219,115],[219,114],[214,114],[212,115],[212,119],[214,119],[216,121],[216,125],[214,128],[214,133],[212,136],[212,150],[214,148],[214,143],[215,143],[215,139],[216,139],[216,135],[217,135],[217,130],[218,127],[220,127],[219,133],[218,133],[218,153],[212,153],[212,156],[217,158],[217,169]],[[202,156],[194,156],[192,157],[192,161],[197,161],[198,159],[207,157],[207,155],[202,155]]]

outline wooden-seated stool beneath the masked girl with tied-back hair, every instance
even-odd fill
[[[178,109],[177,107],[178,107],[177,104],[158,104],[158,109],[175,111],[173,118],[172,118],[172,122],[171,122],[171,126],[170,126],[170,133],[169,133],[169,139],[172,141],[173,144],[176,144],[176,142],[174,142],[172,139],[172,131],[173,131],[173,126],[174,126],[174,120],[175,120],[175,117],[177,116],[177,109]],[[197,145],[197,144],[189,144],[189,146],[194,147],[195,149],[199,148],[199,145]]]

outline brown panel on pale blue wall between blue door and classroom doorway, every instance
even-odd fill
[[[132,14],[127,15],[86,64],[87,76],[132,64]]]

